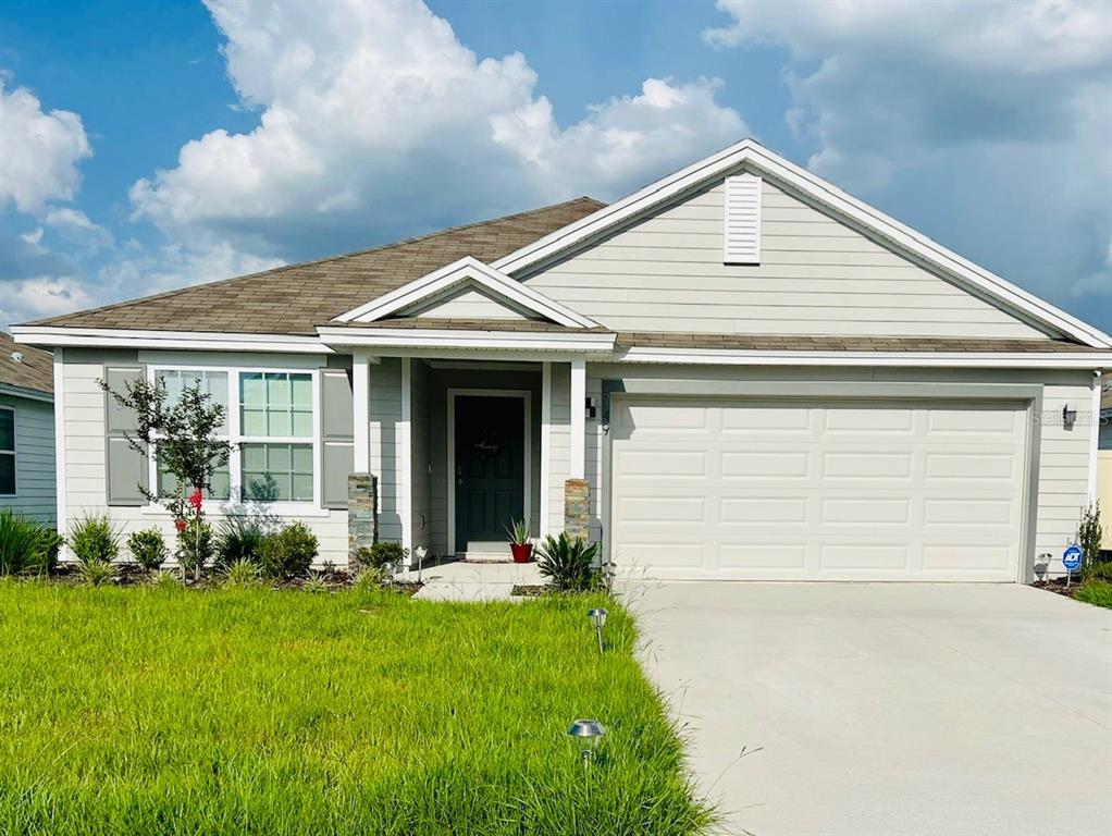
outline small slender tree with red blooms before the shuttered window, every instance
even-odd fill
[[[148,502],[159,503],[173,514],[179,553],[189,550],[189,559],[179,562],[190,563],[193,577],[200,580],[206,558],[202,538],[189,533],[208,527],[201,498],[211,491],[212,476],[231,455],[231,444],[216,437],[216,431],[224,426],[224,406],[212,402],[199,382],[187,387],[173,403],[159,380],[126,383],[123,392],[113,392],[105,381],[98,383],[116,403],[136,414],[135,433],[125,434],[128,445],[142,455],[155,455],[161,469],[173,476],[177,490],[172,496],[160,496],[157,484],[155,490],[140,484],[139,492]]]

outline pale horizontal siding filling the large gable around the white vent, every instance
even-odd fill
[[[765,181],[761,264],[723,264],[718,181],[526,281],[616,331],[1042,333]]]

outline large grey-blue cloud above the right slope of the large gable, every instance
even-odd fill
[[[1112,4],[718,8],[732,23],[711,45],[786,48],[787,121],[813,170],[1112,328],[1106,296],[1075,301],[1112,286]]]

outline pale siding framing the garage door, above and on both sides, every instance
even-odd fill
[[[554,366],[555,367],[555,366]],[[757,381],[765,383],[796,383],[803,387],[810,383],[845,383],[845,396],[853,394],[854,384],[865,383],[1012,383],[1039,384],[1042,386],[1042,413],[1040,422],[1040,444],[1035,451],[1039,469],[1039,492],[1036,518],[1034,520],[1034,549],[1024,553],[1026,565],[1043,552],[1053,555],[1051,569],[1063,573],[1062,551],[1071,542],[1076,531],[1081,509],[1085,505],[1089,491],[1090,452],[1095,425],[1078,422],[1072,429],[1061,423],[1062,407],[1070,404],[1083,412],[1091,403],[1090,372],[1025,372],[987,370],[902,370],[902,368],[831,368],[824,371],[806,368],[745,368],[745,367],[695,367],[695,366],[628,366],[614,364],[589,364],[587,366],[587,391],[600,393],[603,380],[623,377],[661,378],[665,381],[705,380]],[[1034,432],[1030,427],[1029,432]],[[607,504],[602,496],[605,485],[602,466],[605,435],[598,421],[587,422],[587,478],[592,486],[593,537],[606,540],[605,521],[597,531],[594,528],[599,517],[605,514]],[[566,456],[565,456],[566,459]],[[563,482],[560,483],[563,484]],[[563,513],[563,499],[558,504]],[[556,509],[554,509],[554,514]]]

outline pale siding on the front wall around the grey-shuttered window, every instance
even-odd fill
[[[75,358],[71,360],[70,355]],[[226,360],[237,362],[235,355],[227,355]],[[206,357],[206,363],[211,361],[211,356]],[[270,357],[268,363],[280,366],[282,357]],[[68,530],[86,513],[107,511],[120,530],[121,557],[127,557],[127,550],[122,548],[127,535],[148,528],[160,529],[172,550],[176,534],[169,514],[143,508],[108,508],[105,491],[105,393],[97,385],[102,375],[103,363],[95,352],[67,351],[62,364],[66,414],[66,481],[62,490],[66,492],[67,520],[60,528]],[[215,525],[219,524],[219,519],[220,514],[210,515]],[[347,511],[324,511],[320,515],[284,519],[299,519],[312,530],[320,542],[319,562],[347,563]]]

